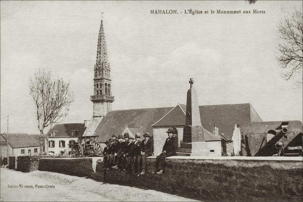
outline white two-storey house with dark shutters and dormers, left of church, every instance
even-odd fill
[[[50,155],[71,155],[72,147],[68,144],[74,143],[81,137],[88,125],[84,123],[65,123],[51,126],[44,138],[45,152]]]

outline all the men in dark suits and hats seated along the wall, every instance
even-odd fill
[[[168,138],[163,146],[162,153],[157,156],[156,173],[163,173],[164,159],[169,156],[176,156],[177,138],[173,128],[169,128]],[[137,133],[135,137],[130,137],[128,132],[124,135],[112,135],[105,142],[106,147],[103,150],[104,168],[124,170],[132,174],[143,175],[146,169],[146,158],[153,155],[154,143],[151,135],[146,132],[144,140],[140,141],[141,135]]]

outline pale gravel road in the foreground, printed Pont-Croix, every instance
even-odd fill
[[[0,181],[1,201],[197,201],[154,190],[105,184],[85,177],[46,171],[22,173],[1,168]],[[8,185],[17,188],[8,188]],[[53,185],[55,188],[38,188],[36,185]]]

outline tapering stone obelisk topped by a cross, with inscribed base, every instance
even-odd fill
[[[204,130],[201,125],[197,91],[194,80],[189,80],[190,89],[187,91],[186,118],[183,129],[183,142],[204,142]]]

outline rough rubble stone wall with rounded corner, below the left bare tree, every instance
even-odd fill
[[[32,172],[38,170],[40,158],[71,158],[70,156],[18,156],[17,170]],[[12,168],[14,169],[14,168]]]

